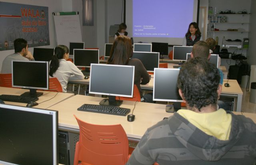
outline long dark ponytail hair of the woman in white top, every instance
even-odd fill
[[[56,48],[54,49],[54,56],[52,56],[52,61],[50,64],[50,73],[49,73],[50,76],[52,76],[56,72],[56,70],[58,70],[60,66],[59,59],[62,59],[65,53],[69,53],[67,46],[65,45],[56,46]]]

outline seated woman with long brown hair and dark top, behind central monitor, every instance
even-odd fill
[[[140,84],[144,85],[149,82],[149,74],[139,59],[130,59],[132,57],[132,53],[131,39],[126,36],[118,36],[111,48],[107,64],[135,66],[134,84],[137,85],[140,91],[141,101],[152,103],[152,93],[143,95],[142,89],[140,88]]]

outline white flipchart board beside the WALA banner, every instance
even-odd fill
[[[69,42],[82,42],[82,32],[78,14],[53,17],[58,45],[66,45],[69,47]]]

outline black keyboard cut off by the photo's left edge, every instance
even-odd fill
[[[30,101],[37,101],[37,97],[27,97],[27,96],[20,96],[20,95],[0,95],[0,99],[3,101],[11,101],[11,102],[18,102],[18,103],[29,103]]]

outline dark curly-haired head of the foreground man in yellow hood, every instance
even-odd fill
[[[204,107],[217,109],[222,86],[216,66],[206,58],[195,57],[185,62],[178,76],[178,89],[187,108],[202,111]]]

